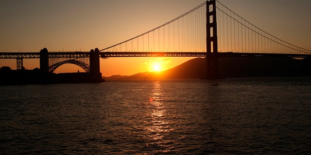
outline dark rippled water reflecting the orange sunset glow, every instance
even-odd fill
[[[2,155],[307,155],[310,131],[310,77],[0,86]]]

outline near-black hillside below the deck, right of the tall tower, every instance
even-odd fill
[[[221,78],[311,76],[311,59],[224,57],[219,59]]]

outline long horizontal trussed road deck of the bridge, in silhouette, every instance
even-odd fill
[[[89,52],[49,52],[49,58],[81,58]],[[112,57],[206,57],[206,52],[100,52],[101,58]],[[219,57],[311,58],[311,54],[218,52]],[[0,59],[40,58],[38,52],[0,52]]]

